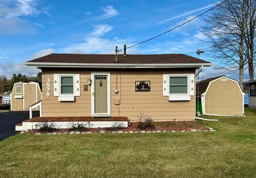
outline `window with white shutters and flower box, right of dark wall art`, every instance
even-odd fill
[[[169,101],[189,101],[194,95],[194,74],[164,74],[163,95]]]

